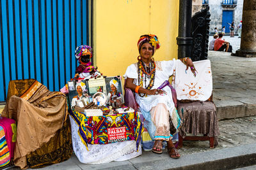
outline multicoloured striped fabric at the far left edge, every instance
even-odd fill
[[[0,167],[10,163],[10,152],[6,143],[3,127],[0,126]]]

